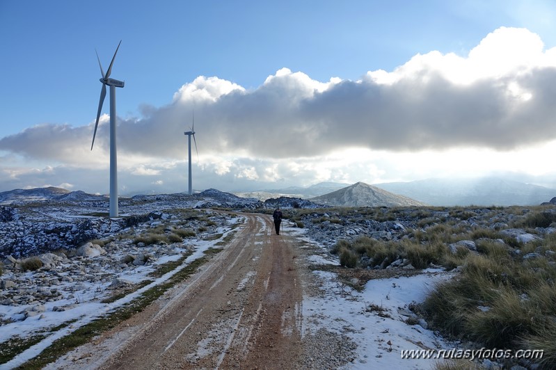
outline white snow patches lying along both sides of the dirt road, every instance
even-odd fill
[[[238,221],[239,219],[232,219],[229,225]],[[230,227],[223,227],[219,230],[223,234],[222,238],[230,231]],[[285,226],[283,233],[295,235],[313,246],[316,244],[314,240],[304,236],[305,230],[303,229]],[[187,257],[181,268],[202,257],[203,252],[214,246],[219,240],[221,239],[194,242],[194,252]],[[328,254],[325,248],[311,248],[311,250],[316,251],[315,255],[310,256],[312,263],[338,264],[337,257]],[[157,264],[163,264],[181,256],[181,253],[169,255],[158,259]],[[115,257],[121,258],[122,256]],[[114,277],[129,282],[140,282],[148,279],[148,273],[153,271],[154,267],[138,266],[133,270],[114,273]],[[47,330],[63,322],[74,321],[67,327],[49,335],[49,337],[10,362],[1,364],[0,369],[16,367],[35,357],[56,339],[110,312],[112,309],[128,303],[146,289],[168,280],[176,272],[167,273],[142,289],[113,303],[100,303],[102,297],[108,294],[106,288],[110,282],[80,282],[79,291],[74,291],[71,298],[46,303],[44,312],[29,316],[23,321],[19,321],[22,319],[22,307],[0,305],[0,315],[3,315],[4,319],[13,318],[15,320],[13,323],[0,327],[0,342],[7,341],[15,336],[26,337],[41,329]],[[388,366],[392,369],[429,369],[434,366],[434,360],[404,359],[402,358],[402,351],[454,348],[454,344],[450,344],[436,335],[435,332],[424,328],[425,323],[422,323],[422,325],[408,325],[404,322],[408,319],[408,316],[412,315],[408,311],[408,305],[422,302],[429,289],[432,289],[436,282],[450,278],[452,276],[450,273],[429,269],[423,271],[421,275],[410,278],[370,280],[365,285],[365,289],[360,292],[338,282],[334,273],[324,271],[314,271],[313,273],[321,281],[321,287],[319,288],[321,294],[304,297],[303,307],[301,307],[303,335],[310,335],[319,328],[327,328],[327,330],[349,337],[351,341],[357,344],[357,348],[354,362],[347,365],[346,368],[369,369],[370,367]],[[29,279],[32,279],[31,275]],[[54,311],[54,306],[65,305],[72,308],[63,312]]]

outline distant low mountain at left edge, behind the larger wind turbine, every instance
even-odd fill
[[[69,191],[64,188],[49,186],[47,188],[15,189],[0,193],[0,204],[11,202],[41,202],[47,200],[84,201],[106,200],[104,195],[88,194],[84,191]]]

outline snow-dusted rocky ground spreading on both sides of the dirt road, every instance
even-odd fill
[[[210,207],[248,209],[252,202],[234,204],[219,192],[209,193],[207,198],[187,199],[173,196],[148,196],[122,204],[122,218],[111,220],[97,216],[100,209],[95,204],[14,204],[0,209],[0,251],[2,275],[0,282],[0,325],[3,335],[0,343],[9,343],[13,337],[10,327],[17,326],[19,336],[37,332],[37,322],[25,324],[30,317],[42,318],[45,328],[59,322],[56,314],[74,312],[77,320],[84,315],[76,307],[98,303],[116,292],[137,290],[138,282],[152,280],[149,274],[167,262],[186,257],[193,250],[213,248],[225,239],[235,225],[241,222],[237,214],[214,211]],[[427,232],[436,225],[450,225],[461,234],[473,230],[496,230],[505,239],[513,253],[520,254],[521,247],[542,241],[556,232],[556,225],[527,227],[522,225],[538,208],[534,207],[471,207],[440,208],[410,207],[399,209],[305,209],[314,204],[297,201],[271,200],[266,208],[279,205],[285,209],[285,225],[302,228],[304,237],[323,247],[325,254],[339,240],[354,241],[360,236],[370,236],[382,241],[414,238],[416,232]],[[209,208],[196,208],[209,207]],[[553,207],[543,207],[542,212],[553,215]],[[180,234],[181,232],[192,232]],[[152,234],[181,235],[179,241],[168,239],[147,241]],[[92,242],[87,242],[93,240]],[[512,240],[515,243],[511,242]],[[26,248],[36,246],[36,249]],[[475,248],[475,241],[461,240],[450,245],[457,248]],[[526,248],[523,248],[526,249]],[[33,253],[34,252],[34,253]],[[547,258],[555,265],[555,253],[551,250],[534,250],[523,255],[527,258]],[[34,258],[29,258],[34,255]],[[328,254],[328,256],[330,256]],[[40,262],[37,262],[37,259]],[[32,263],[39,264],[33,267]],[[397,271],[397,276],[411,275],[412,266],[403,260],[389,261],[375,268],[381,271]],[[344,274],[345,275],[345,274]],[[116,278],[118,277],[118,278]],[[379,278],[386,278],[380,275]],[[347,276],[347,282],[363,282],[372,279],[370,273]],[[129,299],[133,294],[128,294]],[[125,304],[125,302],[121,302]],[[93,307],[98,309],[99,307]],[[68,319],[67,316],[63,316]],[[330,334],[317,331],[310,338],[326,338]],[[323,339],[328,344],[334,339]],[[315,339],[320,341],[320,339]],[[349,344],[351,342],[345,341]],[[351,356],[348,347],[337,349],[344,355],[338,363]],[[1,351],[0,351],[1,355]],[[321,360],[322,361],[322,360]]]

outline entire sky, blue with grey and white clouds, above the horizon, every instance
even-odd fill
[[[527,164],[542,161],[556,140],[550,129],[542,131],[550,127],[553,112],[543,111],[549,104],[531,106],[537,91],[548,91],[532,81],[551,81],[556,67],[555,24],[552,1],[1,0],[0,191],[47,185],[108,191],[107,116],[98,147],[95,140],[89,150],[101,88],[95,49],[106,70],[120,40],[111,75],[125,80],[117,90],[120,193],[185,190],[182,132],[193,106],[198,189],[411,181],[456,172],[510,173],[556,187],[548,159]],[[509,47],[516,38],[521,43]],[[484,40],[490,42],[479,48]],[[534,58],[485,67],[500,54],[514,57],[486,51],[505,43],[515,46],[517,59]],[[471,58],[472,50],[483,57]],[[445,67],[451,56],[469,63]],[[471,62],[481,72],[456,81],[464,73],[454,68],[470,73]],[[548,77],[523,80],[524,63]],[[438,73],[450,84],[417,81]],[[494,113],[485,111],[484,99],[498,102],[501,81],[530,106],[515,113],[515,104],[500,102],[494,109],[500,114],[486,117]],[[462,129],[465,120],[477,124]],[[542,138],[523,131],[532,121]]]

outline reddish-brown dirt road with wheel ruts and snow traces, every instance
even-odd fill
[[[166,303],[125,323],[102,369],[296,369],[302,284],[288,236],[269,216],[245,214],[235,239]],[[157,305],[153,305],[157,306]],[[112,340],[113,341],[113,340]],[[93,356],[98,355],[93,354]]]

